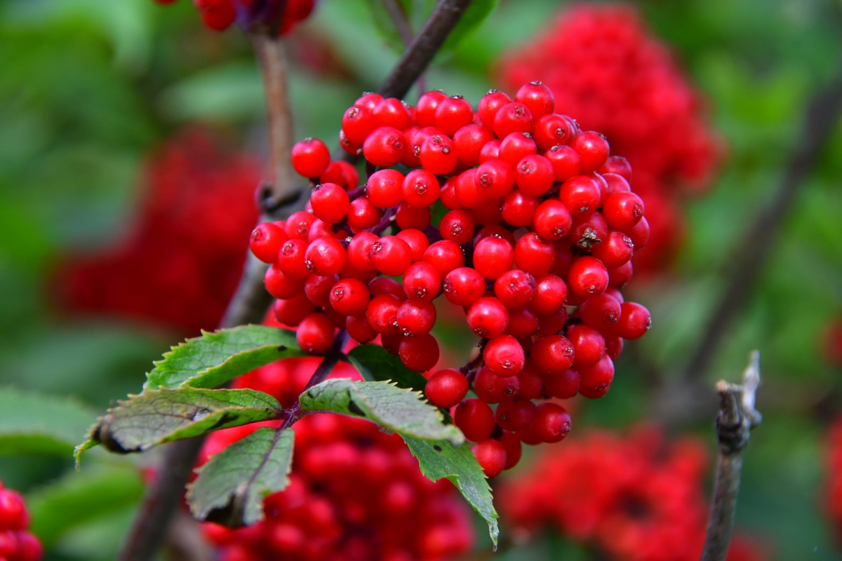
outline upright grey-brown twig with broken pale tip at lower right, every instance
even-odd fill
[[[720,399],[717,415],[717,481],[701,561],[723,561],[728,553],[737,512],[743,450],[749,443],[750,431],[762,421],[762,416],[754,409],[759,385],[759,351],[753,351],[749,357],[749,366],[743,373],[743,384],[728,384],[724,380],[717,383]]]

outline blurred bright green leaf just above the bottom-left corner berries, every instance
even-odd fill
[[[143,479],[135,465],[96,465],[70,473],[26,497],[32,532],[46,548],[73,528],[136,505]]]

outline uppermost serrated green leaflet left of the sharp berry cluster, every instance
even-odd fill
[[[241,325],[188,339],[166,353],[147,374],[144,390],[216,388],[281,358],[303,357],[293,331],[265,325]]]

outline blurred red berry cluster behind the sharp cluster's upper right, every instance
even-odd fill
[[[706,187],[721,158],[695,88],[669,48],[625,5],[569,8],[499,64],[506,87],[539,77],[557,108],[600,130],[635,170],[652,238],[635,259],[653,270],[674,255],[684,224],[682,191]]]

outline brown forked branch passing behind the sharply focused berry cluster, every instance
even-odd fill
[[[427,23],[392,69],[378,90],[386,97],[403,97],[429,66],[436,51],[456,26],[471,0],[440,0]],[[269,117],[270,160],[274,177],[261,195],[262,220],[280,220],[301,208],[301,194],[306,191],[293,179],[290,169],[292,124],[285,83],[285,53],[280,40],[253,35],[254,48],[264,72],[267,113]],[[263,285],[266,265],[250,252],[237,292],[228,304],[220,327],[259,323],[271,303]],[[160,547],[173,518],[184,485],[192,473],[203,437],[173,442],[164,447],[162,468],[147,490],[138,508],[136,519],[118,556],[119,561],[149,561]]]

